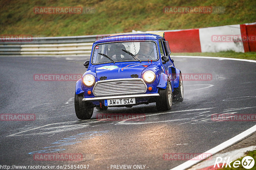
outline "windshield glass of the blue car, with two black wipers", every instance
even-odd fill
[[[138,59],[141,61],[157,60],[156,43],[154,41],[126,41],[94,46],[92,56],[93,64],[113,62],[110,59],[115,62],[138,61]]]

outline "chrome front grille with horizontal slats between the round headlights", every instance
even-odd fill
[[[94,96],[114,96],[145,93],[147,85],[143,79],[113,79],[97,81],[93,88]]]

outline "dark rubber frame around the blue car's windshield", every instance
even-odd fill
[[[92,51],[92,56],[91,56],[91,64],[92,65],[99,65],[99,64],[106,64],[106,63],[112,63],[112,61],[107,61],[107,62],[102,62],[102,63],[93,63],[92,62],[92,58],[93,58],[93,55],[94,55],[94,50],[95,50],[95,46],[98,46],[98,45],[101,45],[101,44],[110,44],[110,43],[119,43],[119,42],[142,42],[143,40],[128,40],[128,41],[111,41],[111,42],[103,42],[103,43],[97,43],[93,46],[93,51]],[[154,40],[145,40],[145,41],[150,41],[150,42],[154,42],[156,44],[156,53],[157,53],[157,59],[156,60],[152,60],[153,61],[158,61],[159,60],[159,49],[158,49],[158,44],[156,41]],[[145,42],[143,41],[143,42]],[[141,60],[141,61],[148,61],[148,60]],[[151,61],[151,60],[149,60]],[[140,62],[139,60],[120,60],[120,61],[115,61],[115,63],[117,62]]]

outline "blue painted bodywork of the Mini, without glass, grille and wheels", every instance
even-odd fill
[[[116,41],[134,41],[134,40],[151,40],[155,41],[157,44],[158,48],[158,56],[161,56],[160,50],[159,50],[159,39],[165,40],[163,37],[156,35],[156,34],[126,34],[126,35],[116,35],[116,36],[111,36],[111,37],[106,37],[103,39],[99,39],[93,43],[92,46],[92,53],[91,53],[91,58],[90,61],[92,60],[92,54],[93,50],[95,49],[95,46],[97,46],[99,43],[104,43],[104,42],[116,42]],[[160,44],[161,45],[161,44]],[[138,74],[138,78],[142,78],[142,75],[144,72],[151,70],[155,72],[156,74],[156,79],[152,83],[146,83],[147,86],[151,86],[152,90],[146,91],[147,93],[158,93],[158,89],[162,88],[165,89],[167,85],[167,78],[171,81],[172,85],[172,91],[174,88],[178,88],[179,86],[179,75],[180,75],[180,70],[175,68],[170,56],[169,61],[166,62],[165,64],[162,63],[162,60],[160,57],[158,57],[158,60],[156,61],[142,61],[141,63],[139,61],[121,61],[121,62],[116,62],[115,64],[111,61],[108,63],[103,63],[103,64],[92,64],[92,62],[89,63],[89,67],[86,70],[86,72],[83,74],[83,77],[86,74],[92,74],[95,77],[95,81],[100,81],[101,76],[107,76],[107,80],[110,79],[123,79],[123,78],[131,78],[131,74]],[[115,66],[116,68],[113,70],[106,70],[106,69],[101,69],[100,67],[103,66]],[[176,70],[176,75],[172,74],[172,68],[175,68]],[[76,94],[84,93],[84,97],[95,97],[93,93],[91,95],[87,94],[88,90],[92,91],[92,87],[86,87],[84,83],[82,82],[82,79],[78,80],[76,82]],[[147,102],[149,98],[144,97],[144,98],[136,98],[136,103],[140,102]],[[93,104],[99,105],[99,101],[92,101]],[[104,103],[104,100],[102,101]]]

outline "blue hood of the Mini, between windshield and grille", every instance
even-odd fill
[[[138,74],[141,78],[142,71],[151,63],[116,63],[96,67],[97,80],[107,77],[109,79],[131,78],[132,74]],[[100,78],[101,77],[101,78]]]

